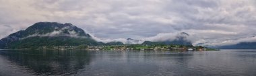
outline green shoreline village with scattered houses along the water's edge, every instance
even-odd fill
[[[207,48],[203,46],[192,45],[142,45],[142,44],[129,44],[129,45],[99,45],[99,46],[43,46],[43,49],[53,50],[170,50],[170,51],[206,51],[206,50],[218,50],[213,48]]]

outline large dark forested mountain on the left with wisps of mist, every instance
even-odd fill
[[[96,45],[81,28],[72,24],[38,22],[0,40],[0,48],[37,48],[39,46]]]

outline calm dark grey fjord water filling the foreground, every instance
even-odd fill
[[[0,50],[1,76],[256,75],[256,50]]]

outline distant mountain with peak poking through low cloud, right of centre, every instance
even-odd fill
[[[189,36],[189,34],[187,34],[185,32],[181,32],[180,34],[177,34],[177,36],[174,40],[166,40],[166,41],[160,41],[160,42],[145,41],[142,44],[148,44],[148,45],[154,45],[154,44],[192,45],[192,43],[189,40],[187,40],[188,36]]]

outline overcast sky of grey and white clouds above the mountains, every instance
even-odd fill
[[[95,38],[193,44],[256,42],[255,0],[0,0],[0,38],[36,22],[71,23]]]

